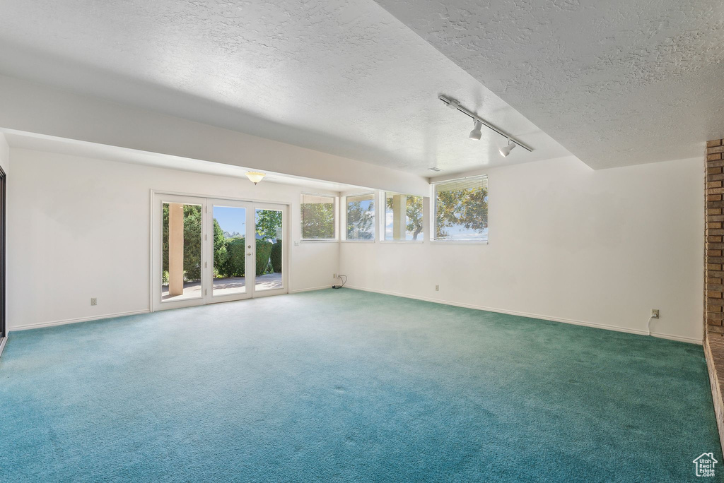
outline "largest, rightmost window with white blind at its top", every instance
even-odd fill
[[[487,243],[487,176],[435,183],[434,195],[434,239]]]

